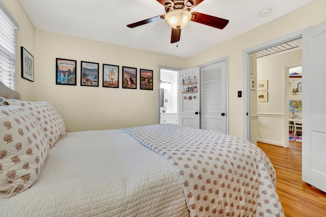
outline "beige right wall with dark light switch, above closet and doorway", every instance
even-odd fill
[[[237,91],[243,90],[243,50],[325,21],[325,8],[325,0],[315,0],[302,8],[187,59],[187,66],[190,68],[229,56],[230,134],[243,137],[243,98],[237,98]]]

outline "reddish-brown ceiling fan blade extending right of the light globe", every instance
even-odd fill
[[[209,25],[214,28],[223,29],[229,23],[229,20],[210,16],[207,14],[202,14],[199,12],[192,12],[192,15],[193,17],[191,21],[198,22],[204,25]]]

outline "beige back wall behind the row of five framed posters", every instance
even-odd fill
[[[36,30],[35,100],[62,114],[67,131],[157,123],[158,66],[185,68],[185,59]],[[56,57],[77,60],[77,85],[56,85]],[[80,86],[80,61],[99,63],[99,87]],[[102,64],[120,66],[119,88],[102,87]],[[137,89],[122,88],[122,66],[138,68]],[[154,72],[154,90],[141,90],[139,69]]]

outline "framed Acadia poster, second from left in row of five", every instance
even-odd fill
[[[98,87],[98,63],[81,61],[80,63],[80,86]]]

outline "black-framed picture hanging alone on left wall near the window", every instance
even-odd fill
[[[34,56],[24,47],[21,52],[21,77],[34,82]]]

